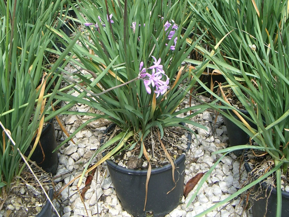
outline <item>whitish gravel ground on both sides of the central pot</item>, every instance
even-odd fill
[[[66,70],[69,70],[69,66],[67,67]],[[185,100],[181,106],[189,106],[188,100]],[[76,105],[71,109],[74,111],[90,111],[90,108],[86,105]],[[66,130],[69,133],[73,133],[90,117],[62,115],[60,119]],[[213,112],[205,111],[199,114],[194,121],[207,126],[208,131],[189,125],[191,129],[197,132],[197,138],[192,135],[192,145],[186,160],[184,184],[199,172],[207,172],[216,160],[221,157],[221,155],[212,155],[212,152],[227,147],[227,131],[220,115],[216,117]],[[60,164],[54,176],[56,193],[75,176],[82,173],[86,162],[99,147],[99,140],[107,125],[108,122],[106,120],[91,122],[75,135],[73,138],[75,144],[69,141],[68,144],[60,148],[58,153]],[[55,123],[55,129],[59,139],[63,140],[66,138],[57,123]],[[93,162],[96,161],[97,159],[93,160]],[[194,190],[190,192],[186,200],[183,197],[182,203],[165,217],[195,216],[236,192],[246,179],[247,174],[243,165],[240,166],[240,161],[231,153],[224,157],[221,163],[213,170],[193,203],[186,207],[188,204],[186,202],[194,193]],[[84,187],[84,181],[80,188]],[[73,184],[65,188],[58,196],[57,201],[54,199],[54,204],[63,217],[87,216],[77,192],[77,182],[78,180],[75,180]],[[97,172],[95,172],[90,189],[85,194],[84,202],[89,216],[131,216],[122,209],[116,197],[105,163],[99,166]],[[218,207],[206,216],[251,216],[248,210],[243,209],[243,207],[244,199],[237,198],[223,207]],[[56,216],[56,214],[54,213],[53,216]]]

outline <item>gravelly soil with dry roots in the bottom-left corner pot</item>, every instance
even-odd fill
[[[32,169],[52,201],[51,176],[35,166]],[[0,217],[52,216],[52,206],[28,167],[24,168],[18,180],[11,183],[8,192],[2,194],[0,202],[3,205]]]

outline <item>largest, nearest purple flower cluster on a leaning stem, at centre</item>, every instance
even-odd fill
[[[140,72],[138,77],[143,80],[147,93],[151,94],[151,88],[149,87],[151,84],[152,87],[155,87],[154,92],[157,94],[156,97],[158,97],[159,95],[163,95],[166,92],[170,79],[164,73],[163,66],[160,65],[161,58],[157,60],[154,56],[151,57],[155,60],[153,62],[154,65],[147,69],[151,69],[152,73],[147,73],[147,69],[143,67],[144,63],[140,62]],[[162,80],[163,76],[166,77],[166,81]],[[145,79],[146,77],[148,79]]]

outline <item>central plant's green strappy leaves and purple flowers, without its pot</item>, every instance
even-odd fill
[[[87,21],[95,24],[104,20],[104,25],[98,25],[97,29],[85,27],[87,35],[81,34],[79,38],[82,46],[75,45],[73,48],[81,64],[71,60],[80,65],[84,69],[82,71],[86,71],[71,74],[75,83],[82,84],[75,87],[79,96],[60,94],[102,113],[90,113],[92,118],[60,146],[94,120],[106,118],[114,122],[121,133],[115,135],[113,141],[109,140],[101,146],[95,155],[115,142],[118,144],[95,167],[124,148],[132,150],[139,147],[141,157],[146,149],[143,141],[150,135],[152,128],[158,128],[161,137],[164,135],[164,127],[184,127],[180,122],[205,128],[191,120],[197,113],[190,114],[189,111],[199,108],[198,112],[201,112],[206,106],[178,110],[192,89],[194,78],[201,74],[201,70],[190,71],[187,66],[181,66],[200,40],[195,38],[192,44],[186,43],[186,38],[196,25],[194,21],[186,22],[189,20],[186,2],[125,0],[123,4],[113,5],[111,1],[105,4],[104,1],[82,0],[78,6],[86,17],[84,19],[75,10],[84,27],[88,25]],[[183,25],[186,25],[186,31],[181,34]],[[69,44],[71,38],[64,36],[65,42]],[[84,115],[81,112],[75,113]],[[178,117],[184,113],[188,113],[188,116]]]

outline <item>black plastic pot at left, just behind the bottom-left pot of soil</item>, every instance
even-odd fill
[[[36,137],[33,139],[27,151],[25,152],[25,156],[29,155],[29,152],[35,142],[35,139]],[[45,170],[46,172],[51,172],[52,175],[54,175],[58,168],[59,163],[58,163],[58,153],[56,151],[52,153],[52,151],[57,147],[53,119],[51,119],[47,123],[47,126],[45,126],[45,128],[42,130],[39,140],[45,158],[43,160],[42,149],[40,148],[40,145],[38,143],[30,159],[32,161],[35,161],[36,164],[40,166],[43,170]]]

